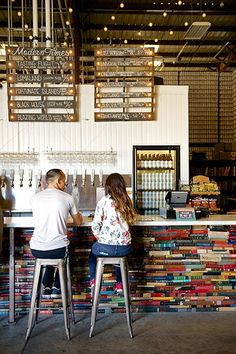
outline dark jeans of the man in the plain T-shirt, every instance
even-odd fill
[[[39,251],[31,249],[31,253],[35,258],[41,259],[63,259],[68,256],[68,247],[57,248],[55,250],[49,251]],[[53,285],[60,289],[60,278],[59,278],[59,271],[53,266],[46,266],[46,271],[43,277],[43,285],[45,288],[51,288]]]

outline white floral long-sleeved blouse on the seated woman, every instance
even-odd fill
[[[97,203],[92,232],[100,243],[120,246],[131,243],[129,226],[116,211],[115,202],[110,195],[106,195]]]

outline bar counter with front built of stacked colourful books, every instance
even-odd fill
[[[80,227],[68,222],[68,229],[73,245],[74,309],[77,313],[90,311],[91,219],[85,218]],[[129,279],[134,312],[236,311],[235,215],[196,221],[138,216],[131,230],[134,251],[129,256]],[[34,272],[29,249],[32,231],[31,217],[4,220],[0,314],[8,314],[9,322],[28,313]],[[124,311],[124,298],[115,294],[114,284],[111,267],[103,279],[100,311]],[[47,296],[42,305],[44,313],[61,312],[60,297]]]

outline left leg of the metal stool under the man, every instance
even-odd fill
[[[36,297],[37,297],[38,287],[39,287],[40,272],[41,272],[41,266],[40,266],[40,263],[38,262],[38,260],[36,260],[34,280],[33,280],[33,289],[32,289],[32,294],[31,294],[31,303],[30,303],[29,318],[28,318],[28,327],[27,327],[27,331],[26,331],[26,335],[25,335],[26,341],[28,340],[30,333],[32,331],[32,327],[35,323],[34,311],[35,311],[35,302],[36,302]]]

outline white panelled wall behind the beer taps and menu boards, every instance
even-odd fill
[[[79,121],[75,123],[48,122],[8,122],[6,85],[0,90],[0,152],[40,153],[39,162],[30,166],[34,169],[55,167],[45,158],[46,150],[52,151],[117,151],[114,164],[66,164],[57,167],[67,168],[78,173],[86,168],[95,168],[96,173],[132,173],[133,145],[180,145],[181,180],[189,179],[188,147],[188,87],[156,86],[156,120],[147,122],[94,122],[94,86],[78,87]],[[29,168],[27,162],[24,168]],[[0,162],[0,168],[3,165]],[[18,164],[19,165],[19,164]],[[4,168],[16,168],[5,161]]]

